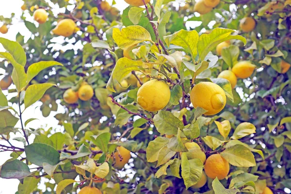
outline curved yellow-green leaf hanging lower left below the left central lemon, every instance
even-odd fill
[[[158,155],[164,146],[167,146],[169,139],[165,137],[157,137],[151,141],[146,148],[146,160],[147,162],[156,162]]]

